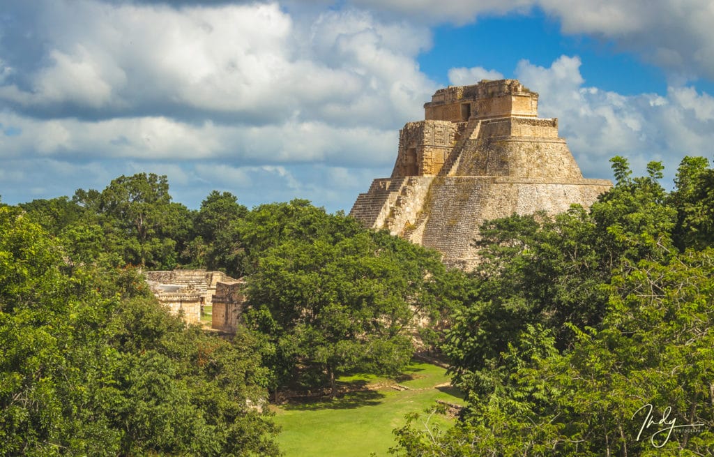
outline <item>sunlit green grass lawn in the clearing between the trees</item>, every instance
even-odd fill
[[[393,383],[375,376],[349,376],[341,383]],[[448,386],[446,370],[413,362],[397,381],[409,390],[383,386],[358,391],[333,400],[290,403],[276,408],[275,421],[282,427],[278,437],[286,457],[387,456],[394,446],[392,430],[403,426],[404,415],[422,412],[436,400],[463,403],[456,389]],[[434,415],[431,423],[448,426],[445,416]]]

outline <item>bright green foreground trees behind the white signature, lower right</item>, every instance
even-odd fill
[[[418,416],[411,416],[395,431],[393,453],[709,455],[712,277],[711,248],[623,266],[608,286],[599,331],[571,326],[573,347],[560,353],[550,331],[528,326],[498,358],[473,372],[468,410],[456,427],[419,428]],[[677,428],[669,434],[672,423]]]

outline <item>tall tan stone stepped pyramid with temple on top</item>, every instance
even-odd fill
[[[588,207],[612,186],[583,178],[558,119],[538,118],[538,94],[515,79],[439,89],[424,114],[399,132],[392,175],[350,215],[441,251],[448,265],[473,268],[483,221]]]

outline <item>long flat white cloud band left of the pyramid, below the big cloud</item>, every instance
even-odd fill
[[[44,121],[0,112],[0,158],[72,156],[74,159],[142,161],[222,160],[243,164],[323,163],[387,166],[396,151],[396,129],[331,126],[288,121],[266,126],[188,124],[166,117],[106,121]],[[98,154],[99,151],[99,154]]]

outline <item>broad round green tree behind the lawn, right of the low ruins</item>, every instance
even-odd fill
[[[243,241],[254,246],[248,256],[258,259],[247,321],[273,345],[274,387],[298,373],[335,393],[341,373],[397,373],[413,352],[415,316],[431,315],[438,256],[345,216],[290,206],[278,206],[274,219],[259,207],[246,217],[255,225],[243,225]]]

